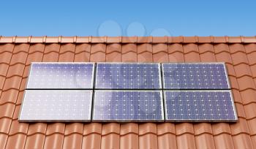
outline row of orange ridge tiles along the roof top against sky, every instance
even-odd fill
[[[0,43],[256,43],[256,37],[0,37]]]

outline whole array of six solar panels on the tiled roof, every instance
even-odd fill
[[[32,63],[19,121],[236,121],[224,63]]]

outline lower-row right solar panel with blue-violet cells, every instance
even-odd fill
[[[236,121],[230,91],[164,91],[165,121]]]

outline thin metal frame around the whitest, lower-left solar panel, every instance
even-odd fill
[[[49,92],[57,92],[57,91],[70,91],[70,92],[89,92],[90,93],[90,106],[89,106],[89,118],[88,119],[85,119],[85,120],[72,120],[72,119],[56,119],[56,120],[42,120],[42,119],[31,119],[31,120],[24,120],[24,119],[20,119],[21,118],[21,115],[22,115],[22,112],[23,112],[23,107],[24,107],[24,102],[25,102],[25,99],[26,99],[26,95],[28,94],[28,92],[31,92],[31,91],[49,91]],[[94,91],[93,90],[25,90],[24,92],[24,95],[23,95],[23,100],[21,102],[21,106],[20,106],[20,112],[19,112],[19,115],[18,115],[18,121],[19,122],[26,122],[26,123],[33,123],[33,122],[91,122],[91,110],[92,110],[92,104],[93,104],[93,94],[94,94]]]

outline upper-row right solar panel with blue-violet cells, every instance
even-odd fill
[[[164,88],[227,89],[225,64],[162,64]]]

